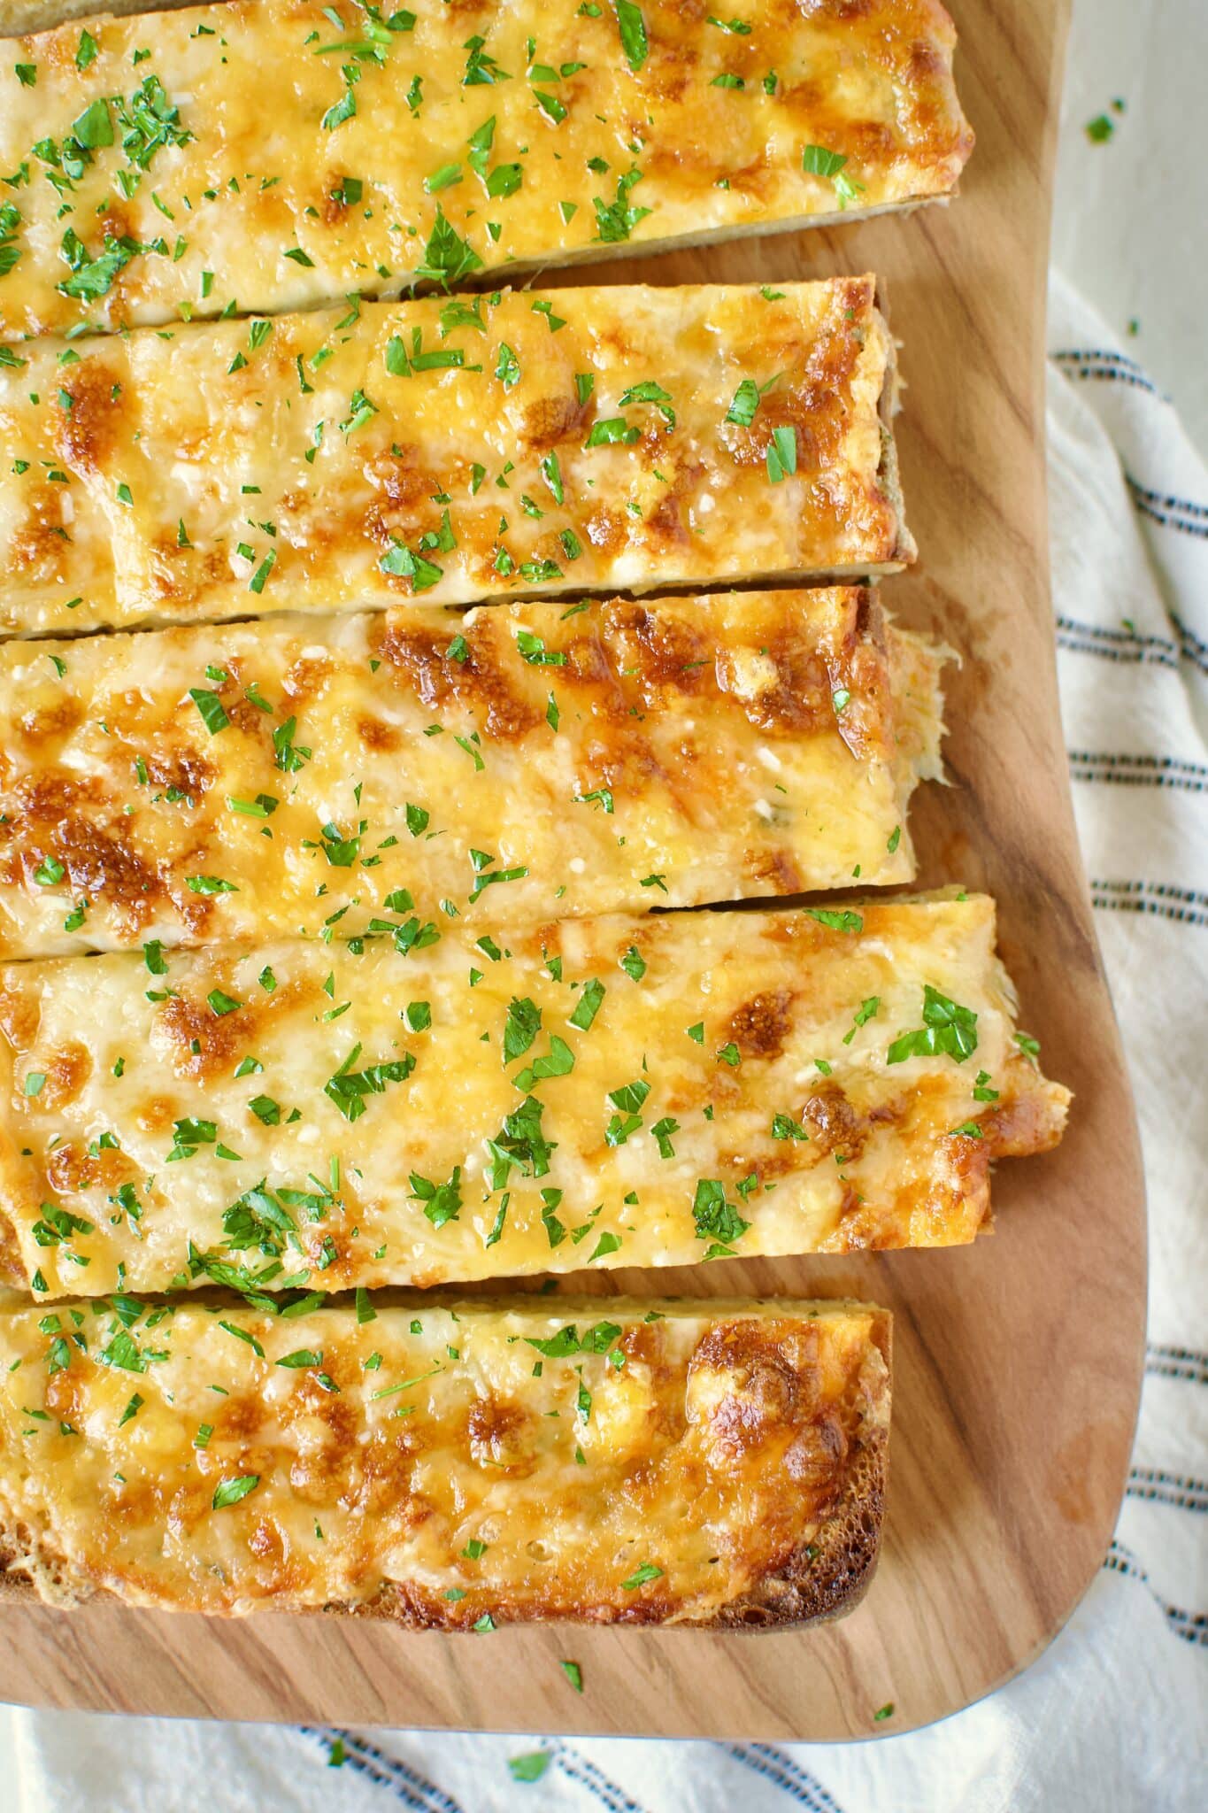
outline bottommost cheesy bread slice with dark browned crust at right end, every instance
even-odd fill
[[[9,1579],[489,1632],[788,1621],[871,1570],[886,1311],[299,1307],[0,1314]]]

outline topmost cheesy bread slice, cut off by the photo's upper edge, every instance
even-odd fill
[[[936,0],[232,0],[0,69],[0,334],[281,312],[947,196]]]

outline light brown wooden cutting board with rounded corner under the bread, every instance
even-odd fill
[[[1134,1111],[1081,872],[1047,586],[1043,323],[1065,0],[949,0],[978,149],[960,201],[911,219],[630,259],[574,281],[775,283],[875,268],[907,379],[900,448],[922,558],[891,607],[960,651],[951,787],[913,825],[922,885],[1002,903],[1021,1024],[1076,1091],[1058,1153],[1002,1168],[998,1231],[956,1253],[659,1273],[657,1291],[871,1296],[895,1311],[886,1545],[815,1632],[407,1635],[326,1617],[4,1612],[20,1702],[331,1724],[746,1739],[891,1735],[1027,1666],[1112,1534],[1145,1334]],[[650,1293],[641,1273],[601,1289]],[[580,1280],[574,1280],[576,1289]],[[560,1657],[581,1663],[578,1697]],[[873,1719],[893,1704],[893,1715]]]

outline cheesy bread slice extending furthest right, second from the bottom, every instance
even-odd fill
[[[987,1220],[992,1159],[1061,1133],[985,896],[384,923],[2,968],[7,1280],[330,1291],[945,1246]]]

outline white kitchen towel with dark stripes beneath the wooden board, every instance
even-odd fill
[[[1204,1806],[1208,470],[1174,408],[1061,279],[1052,283],[1049,341],[1065,738],[1137,1093],[1152,1242],[1128,1496],[1070,1624],[982,1704],[929,1731],[862,1746],[460,1737],[11,1710],[0,1713],[4,1813],[194,1813],[203,1800],[214,1813]]]

